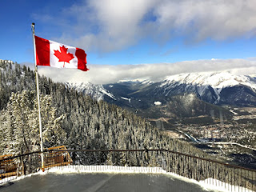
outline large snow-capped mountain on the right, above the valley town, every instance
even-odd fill
[[[213,104],[256,104],[256,81],[246,75],[228,72],[178,74],[167,77],[154,89],[154,94],[172,96],[194,93]]]

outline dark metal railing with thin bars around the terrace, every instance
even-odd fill
[[[45,150],[46,169],[59,166],[150,166],[229,191],[256,191],[256,170],[172,150]],[[41,152],[0,159],[0,184],[40,170]]]

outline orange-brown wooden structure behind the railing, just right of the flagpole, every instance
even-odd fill
[[[72,158],[70,158],[69,152],[65,151],[66,146],[54,146],[47,150],[50,151],[45,154],[45,168],[53,166],[67,166],[73,162]]]

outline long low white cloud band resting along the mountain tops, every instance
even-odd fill
[[[256,61],[246,59],[198,60],[175,63],[155,63],[138,65],[88,65],[87,72],[73,69],[56,69],[38,66],[39,74],[52,78],[55,82],[92,82],[106,84],[119,80],[150,79],[158,81],[172,74],[203,71],[229,70],[234,74],[256,74]]]

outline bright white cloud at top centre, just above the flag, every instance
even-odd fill
[[[83,16],[89,17],[87,22],[78,22],[76,27],[91,28],[78,38],[66,38],[69,34],[63,34],[61,40],[75,42],[75,45],[87,50],[102,52],[134,45],[144,35],[140,24],[153,4],[153,0],[98,0],[86,1],[79,8],[74,5],[69,10],[70,15],[76,15],[79,21]],[[87,14],[88,10],[90,15]],[[90,23],[87,26],[88,22]]]

